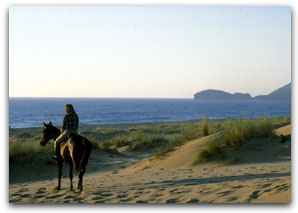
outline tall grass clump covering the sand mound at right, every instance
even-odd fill
[[[223,137],[209,141],[207,146],[199,151],[193,164],[205,162],[233,164],[238,160],[235,150],[239,146],[251,139],[275,137],[273,129],[289,123],[289,118],[227,119],[223,123]]]

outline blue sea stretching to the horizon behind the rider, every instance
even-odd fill
[[[291,116],[290,101],[196,101],[193,99],[10,98],[12,128],[60,126],[64,105],[73,104],[80,124]]]

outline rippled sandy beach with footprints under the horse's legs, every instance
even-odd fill
[[[291,125],[275,130],[290,135]],[[215,133],[189,141],[163,158],[94,150],[81,193],[70,191],[68,165],[62,189],[56,191],[57,167],[10,168],[10,203],[289,203],[291,202],[291,141],[255,139],[241,146],[233,165],[192,162],[200,147],[220,137]],[[74,172],[74,186],[78,178]]]

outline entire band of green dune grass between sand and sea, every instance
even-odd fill
[[[121,127],[107,127],[88,130],[84,127],[81,135],[87,137],[93,149],[111,154],[120,154],[119,148],[128,147],[128,151],[151,152],[156,158],[164,157],[175,147],[186,142],[215,132],[223,132],[221,142],[209,144],[198,155],[198,162],[218,161],[233,162],[227,149],[235,149],[246,141],[259,137],[273,137],[272,130],[289,124],[290,117],[237,119],[227,121],[209,120],[206,115],[201,121],[169,122],[152,124],[131,124]],[[88,130],[88,131],[86,131]],[[54,154],[53,146],[42,147],[39,144],[41,129],[11,129],[9,139],[9,162],[24,163],[34,156],[43,155],[46,161]]]

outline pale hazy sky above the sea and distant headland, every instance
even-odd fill
[[[10,97],[255,96],[290,81],[290,7],[9,8]]]

